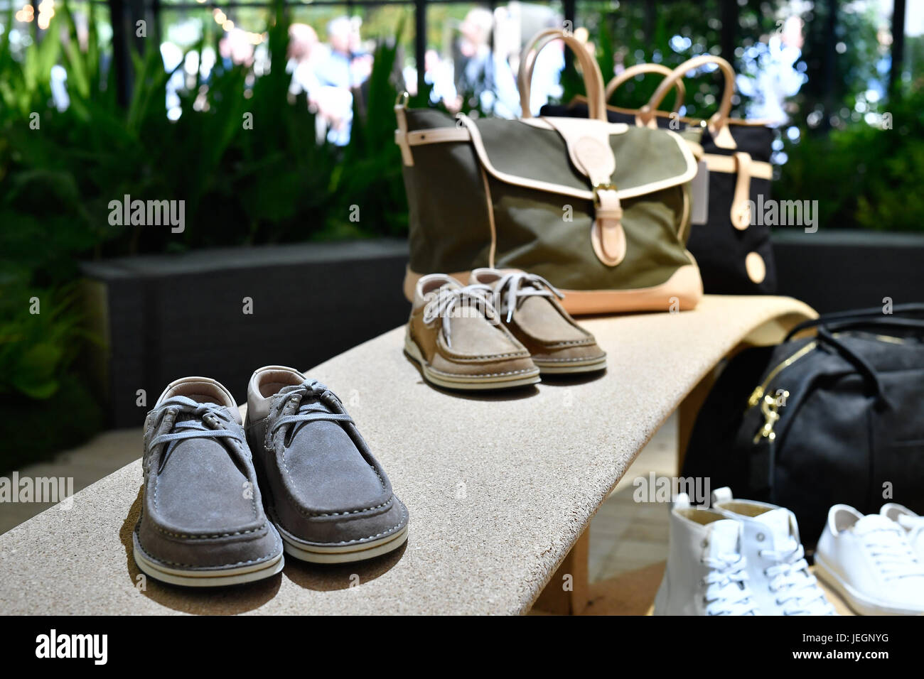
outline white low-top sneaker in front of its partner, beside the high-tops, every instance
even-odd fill
[[[815,551],[815,573],[862,615],[924,613],[924,562],[905,528],[883,515],[835,504]]]

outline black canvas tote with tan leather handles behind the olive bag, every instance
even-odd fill
[[[722,71],[725,86],[719,111],[710,120],[679,117],[658,111],[671,89],[677,89],[675,109],[683,101],[683,77],[706,65]],[[665,67],[653,64],[629,67],[607,86],[607,99],[619,85],[641,73],[663,75]],[[701,149],[700,172],[708,176],[705,191],[694,181],[694,220],[687,249],[699,264],[703,290],[715,295],[772,295],[776,292],[776,264],[771,243],[771,224],[749,211],[771,200],[770,164],[773,130],[761,121],[729,117],[735,93],[735,71],[718,56],[700,55],[674,71],[668,71],[649,103],[635,111],[607,106],[611,122],[675,129]],[[543,106],[541,115],[587,115],[583,103]],[[698,210],[697,203],[705,201]],[[699,212],[699,219],[698,217]],[[705,219],[702,219],[705,217]]]

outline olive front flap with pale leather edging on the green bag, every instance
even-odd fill
[[[556,129],[561,127],[574,137],[575,118],[473,120],[460,115],[459,120],[468,128],[481,165],[496,179],[593,200],[593,182],[576,166],[574,144]],[[620,200],[684,184],[697,173],[687,142],[673,131],[597,120],[580,123],[586,124],[588,139],[600,139],[601,129],[605,130],[603,137],[608,133],[615,161],[609,183],[615,185]]]

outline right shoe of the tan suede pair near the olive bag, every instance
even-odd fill
[[[562,308],[558,300],[564,296],[541,276],[476,269],[469,285],[491,289],[494,308],[543,375],[606,368],[606,352]]]

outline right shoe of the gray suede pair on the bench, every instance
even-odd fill
[[[283,366],[257,370],[245,428],[286,553],[340,564],[392,552],[407,540],[407,508],[321,382]]]

